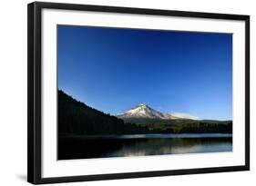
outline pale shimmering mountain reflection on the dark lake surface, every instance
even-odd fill
[[[230,151],[232,151],[232,145],[229,139],[149,139],[123,145],[120,150],[110,152],[108,156],[145,156]]]

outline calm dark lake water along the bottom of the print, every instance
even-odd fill
[[[58,139],[59,160],[200,152],[232,152],[232,134],[91,135]]]

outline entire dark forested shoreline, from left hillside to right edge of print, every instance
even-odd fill
[[[169,121],[136,124],[124,122],[115,116],[102,113],[85,103],[78,102],[63,91],[58,91],[59,134],[133,134],[133,133],[189,133],[232,132],[232,122]]]

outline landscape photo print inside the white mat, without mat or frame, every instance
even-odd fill
[[[57,25],[57,159],[232,152],[232,34]]]

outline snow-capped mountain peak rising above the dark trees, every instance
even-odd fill
[[[117,115],[118,118],[152,118],[152,119],[163,119],[163,120],[171,120],[171,119],[180,119],[180,117],[173,116],[169,113],[160,113],[152,108],[150,108],[147,104],[141,103],[137,106],[129,109],[123,114]]]

